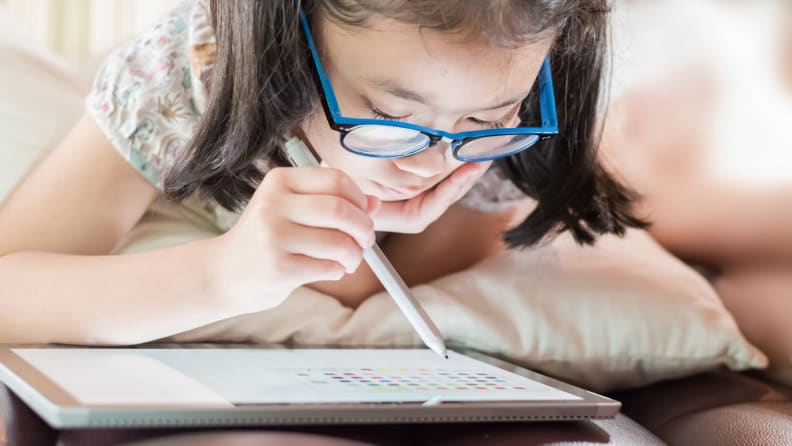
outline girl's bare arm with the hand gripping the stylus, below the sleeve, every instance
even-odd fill
[[[0,342],[140,343],[261,311],[374,239],[347,175],[273,169],[225,234],[107,256],[156,196],[83,118],[0,209]]]

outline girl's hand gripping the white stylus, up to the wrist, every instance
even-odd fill
[[[273,169],[234,227],[213,240],[211,286],[224,304],[254,312],[301,285],[338,280],[374,243],[377,204],[339,170]]]

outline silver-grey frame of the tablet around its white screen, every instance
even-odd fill
[[[453,346],[452,346],[453,347]],[[0,346],[0,381],[54,428],[206,427],[316,424],[501,422],[602,419],[614,417],[621,404],[573,385],[519,367],[494,356],[454,348],[460,354],[570,393],[579,400],[454,401],[410,403],[241,404],[232,407],[152,407],[84,405],[44,373],[13,352],[19,348],[86,348],[60,345]],[[136,347],[124,347],[134,349]],[[243,348],[283,346],[250,344],[146,344],[146,349]],[[300,346],[296,348],[317,348]],[[349,348],[323,346],[323,348]],[[369,347],[366,347],[369,348]],[[401,349],[401,348],[400,348]]]

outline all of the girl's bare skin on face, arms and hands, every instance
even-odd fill
[[[517,105],[485,109],[522,99],[550,45],[503,49],[386,20],[371,25],[321,26],[345,113],[372,117],[367,98],[447,131],[513,125]],[[397,98],[383,83],[427,103]],[[0,342],[136,344],[272,308],[303,285],[354,307],[379,289],[360,266],[375,230],[399,233],[383,248],[417,284],[503,249],[500,232],[524,213],[454,205],[489,166],[460,163],[443,144],[373,160],[341,148],[320,114],[304,131],[329,168],[269,172],[234,227],[215,238],[109,255],[159,194],[83,117],[0,208]]]

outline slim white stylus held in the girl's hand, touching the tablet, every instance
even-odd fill
[[[285,143],[286,155],[292,165],[297,167],[319,167],[319,162],[314,157],[311,150],[298,137],[292,137]],[[399,273],[393,268],[390,261],[375,243],[363,250],[363,259],[366,260],[371,271],[382,282],[385,290],[391,295],[393,301],[407,320],[418,332],[418,336],[435,353],[448,358],[446,346],[443,342],[443,335],[437,329],[432,319],[423,309],[421,303],[412,295],[410,288],[404,283]]]

